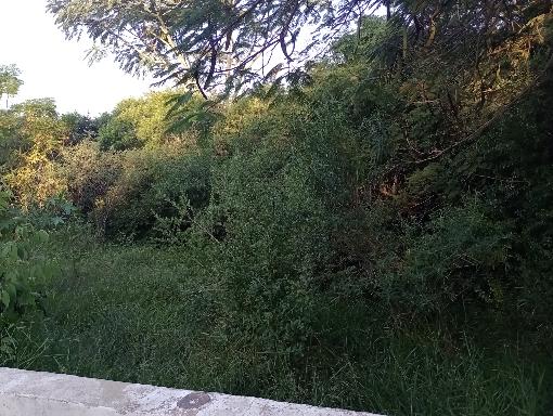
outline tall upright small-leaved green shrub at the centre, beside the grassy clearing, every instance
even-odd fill
[[[332,226],[300,157],[270,147],[232,157],[214,179],[218,200],[206,217],[215,223],[202,218],[193,229],[231,297],[229,335],[296,355],[312,336],[313,281]]]

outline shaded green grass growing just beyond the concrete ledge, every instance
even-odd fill
[[[182,249],[86,235],[53,236],[47,252],[63,272],[43,283],[46,316],[12,329],[10,365],[398,416],[552,408],[546,356],[432,325],[393,328],[371,304],[321,301],[319,337],[299,359],[259,351],[228,337],[224,292],[192,273]]]

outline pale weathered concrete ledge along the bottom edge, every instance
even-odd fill
[[[377,416],[219,393],[0,368],[0,416]]]

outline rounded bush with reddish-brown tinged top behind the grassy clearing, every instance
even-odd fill
[[[68,198],[100,235],[154,237],[157,220],[177,216],[176,203],[184,198],[200,209],[209,199],[209,159],[183,148],[179,143],[125,152],[102,152],[92,142],[73,146],[63,153],[61,173]]]

